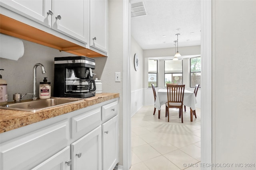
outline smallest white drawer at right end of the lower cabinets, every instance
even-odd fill
[[[118,101],[102,106],[102,123],[111,119],[118,113]]]

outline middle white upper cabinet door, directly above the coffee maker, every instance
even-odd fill
[[[89,30],[88,9],[88,0],[53,0],[52,29],[87,43]]]

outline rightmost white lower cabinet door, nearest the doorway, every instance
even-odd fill
[[[118,163],[118,115],[102,124],[102,169],[113,170]]]

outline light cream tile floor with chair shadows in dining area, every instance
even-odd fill
[[[160,119],[154,106],[143,106],[132,117],[132,166],[130,170],[200,170],[201,112],[190,122],[190,108],[170,109],[170,121],[165,117],[165,105]]]

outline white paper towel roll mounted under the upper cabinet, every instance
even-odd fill
[[[6,34],[0,34],[0,57],[18,60],[24,55],[24,44],[21,39]]]

